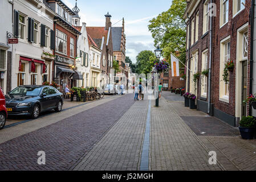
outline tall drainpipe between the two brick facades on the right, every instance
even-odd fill
[[[210,1],[213,3],[213,0]],[[213,16],[210,16],[210,47],[209,47],[209,77],[208,77],[208,114],[210,114],[210,90],[211,90],[211,80],[212,80],[212,38],[213,38]]]

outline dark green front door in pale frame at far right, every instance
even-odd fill
[[[247,97],[247,61],[242,62],[242,117],[246,116],[246,104],[243,101]]]

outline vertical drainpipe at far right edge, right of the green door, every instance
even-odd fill
[[[250,40],[250,94],[253,94],[253,31],[254,31],[254,0],[251,0],[251,40]],[[249,115],[251,115],[251,105],[249,107]]]

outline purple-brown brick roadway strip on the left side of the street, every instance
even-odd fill
[[[131,95],[82,111],[0,144],[1,170],[68,170],[133,105]],[[38,151],[46,165],[37,164]]]

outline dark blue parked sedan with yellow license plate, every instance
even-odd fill
[[[63,106],[63,94],[52,86],[18,86],[5,98],[8,115],[31,115],[37,118],[43,111],[55,109],[60,112]]]

